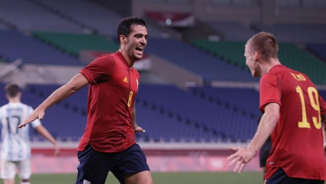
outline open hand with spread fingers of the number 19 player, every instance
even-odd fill
[[[236,153],[228,157],[228,160],[231,160],[230,167],[237,162],[233,169],[234,173],[241,173],[244,166],[256,155],[254,150],[248,148],[230,147],[230,149],[236,151]]]

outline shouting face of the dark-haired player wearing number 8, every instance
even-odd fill
[[[130,59],[137,61],[142,58],[147,44],[147,29],[142,25],[132,25],[131,29],[126,39],[126,51]]]

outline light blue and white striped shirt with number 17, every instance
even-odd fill
[[[8,103],[0,107],[1,160],[22,161],[30,158],[29,124],[23,128],[17,126],[32,112],[33,108],[23,103]],[[40,120],[32,122],[34,128],[39,125]]]

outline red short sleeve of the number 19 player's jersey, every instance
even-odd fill
[[[281,81],[274,75],[263,75],[260,79],[259,88],[259,109],[262,113],[265,112],[265,107],[269,103],[277,103],[281,105]]]

